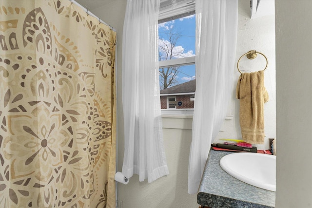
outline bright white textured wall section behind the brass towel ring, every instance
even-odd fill
[[[274,15],[250,19],[250,1],[239,0],[238,32],[236,59],[234,67],[233,94],[229,113],[233,119],[226,119],[215,143],[223,143],[219,138],[241,139],[239,126],[239,99],[235,97],[237,79],[240,73],[236,64],[243,54],[251,50],[263,53],[268,58],[268,68],[265,70],[265,87],[269,93],[270,100],[264,104],[265,119],[265,144],[256,145],[259,150],[269,149],[268,138],[276,137],[275,120],[275,22]],[[265,68],[266,61],[263,56],[258,54],[255,59],[243,57],[239,62],[239,69],[242,72],[256,72]],[[244,70],[244,71],[243,71]]]

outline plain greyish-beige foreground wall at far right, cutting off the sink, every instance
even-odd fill
[[[276,208],[312,208],[312,1],[275,1]]]

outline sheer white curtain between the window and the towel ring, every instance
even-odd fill
[[[188,192],[196,193],[233,93],[237,0],[196,0],[196,92]]]

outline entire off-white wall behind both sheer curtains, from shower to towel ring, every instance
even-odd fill
[[[269,67],[265,72],[265,85],[270,95],[269,103],[265,104],[265,122],[267,137],[275,137],[275,57],[274,57],[274,17],[250,19],[250,1],[239,0],[239,26],[237,39],[236,61],[250,50],[258,50],[269,59]],[[126,1],[112,0],[100,8],[91,10],[92,13],[117,29],[117,142],[118,170],[121,170],[124,151],[123,114],[121,105],[121,67],[122,67],[122,27]],[[259,58],[251,61],[254,65],[264,64]],[[241,61],[241,66],[250,63]],[[264,64],[265,65],[265,64]],[[234,69],[233,86],[239,76]],[[238,100],[234,96],[230,111],[233,119],[225,121],[223,132],[218,138],[240,138],[238,123]],[[187,193],[188,158],[192,137],[192,118],[163,117],[164,146],[170,174],[157,179],[155,182],[138,182],[137,175],[130,179],[128,185],[118,183],[119,208],[197,208],[197,196]]]

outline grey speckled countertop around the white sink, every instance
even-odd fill
[[[219,165],[229,151],[209,152],[197,194],[197,203],[211,208],[274,208],[275,192],[246,184]]]

